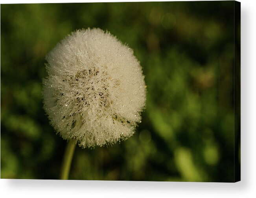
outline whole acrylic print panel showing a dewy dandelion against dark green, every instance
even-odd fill
[[[1,5],[1,178],[239,181],[240,3]]]

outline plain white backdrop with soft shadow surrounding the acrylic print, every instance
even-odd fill
[[[128,0],[129,1],[129,0]],[[143,1],[143,0],[141,0]],[[155,0],[156,1],[156,0]],[[48,1],[0,0],[9,3]],[[54,2],[71,2],[54,0]],[[85,2],[85,1],[75,1]],[[97,1],[89,1],[97,2]],[[120,2],[120,1],[98,1]],[[256,197],[256,6],[241,0],[241,181],[193,183],[151,181],[0,180],[0,197]]]

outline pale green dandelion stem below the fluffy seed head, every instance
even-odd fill
[[[61,167],[61,180],[68,180],[68,174],[74,154],[74,150],[76,148],[76,144],[73,141],[68,141],[66,146],[62,167]]]

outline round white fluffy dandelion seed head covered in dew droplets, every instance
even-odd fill
[[[145,82],[133,50],[101,29],[77,30],[46,56],[44,109],[64,139],[81,147],[133,135],[145,106]]]

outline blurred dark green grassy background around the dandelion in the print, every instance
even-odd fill
[[[99,27],[147,84],[136,134],[76,147],[72,180],[234,181],[234,2],[1,5],[1,178],[58,179],[66,146],[42,109],[45,55]]]

